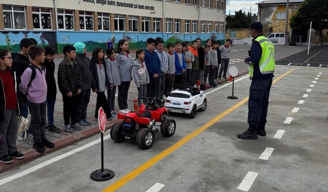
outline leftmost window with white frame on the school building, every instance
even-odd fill
[[[3,6],[5,29],[26,29],[25,7]]]

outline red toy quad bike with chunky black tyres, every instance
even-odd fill
[[[119,113],[117,118],[123,119],[122,123],[116,123],[111,128],[111,138],[115,142],[123,142],[125,139],[135,140],[140,148],[150,148],[155,140],[155,133],[159,130],[165,137],[171,137],[175,132],[176,123],[174,119],[166,118],[168,110],[162,99],[144,99],[139,114],[129,112]],[[161,122],[160,125],[155,125]]]

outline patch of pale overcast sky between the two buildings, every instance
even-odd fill
[[[235,11],[242,10],[242,12],[250,12],[251,6],[252,6],[252,13],[257,14],[257,5],[255,5],[258,2],[261,2],[262,0],[227,0],[227,15],[230,14],[234,15]]]

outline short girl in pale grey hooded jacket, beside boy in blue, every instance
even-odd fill
[[[147,97],[147,84],[149,83],[149,75],[144,62],[145,52],[138,49],[135,53],[136,59],[132,63],[132,73],[135,85],[138,89],[138,105],[142,104],[142,99]]]

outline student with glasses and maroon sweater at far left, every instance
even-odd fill
[[[4,143],[0,143],[0,162],[11,163],[12,159],[23,159],[17,151],[16,133],[18,100],[15,90],[15,72],[11,69],[12,57],[8,50],[0,49],[0,133]]]

